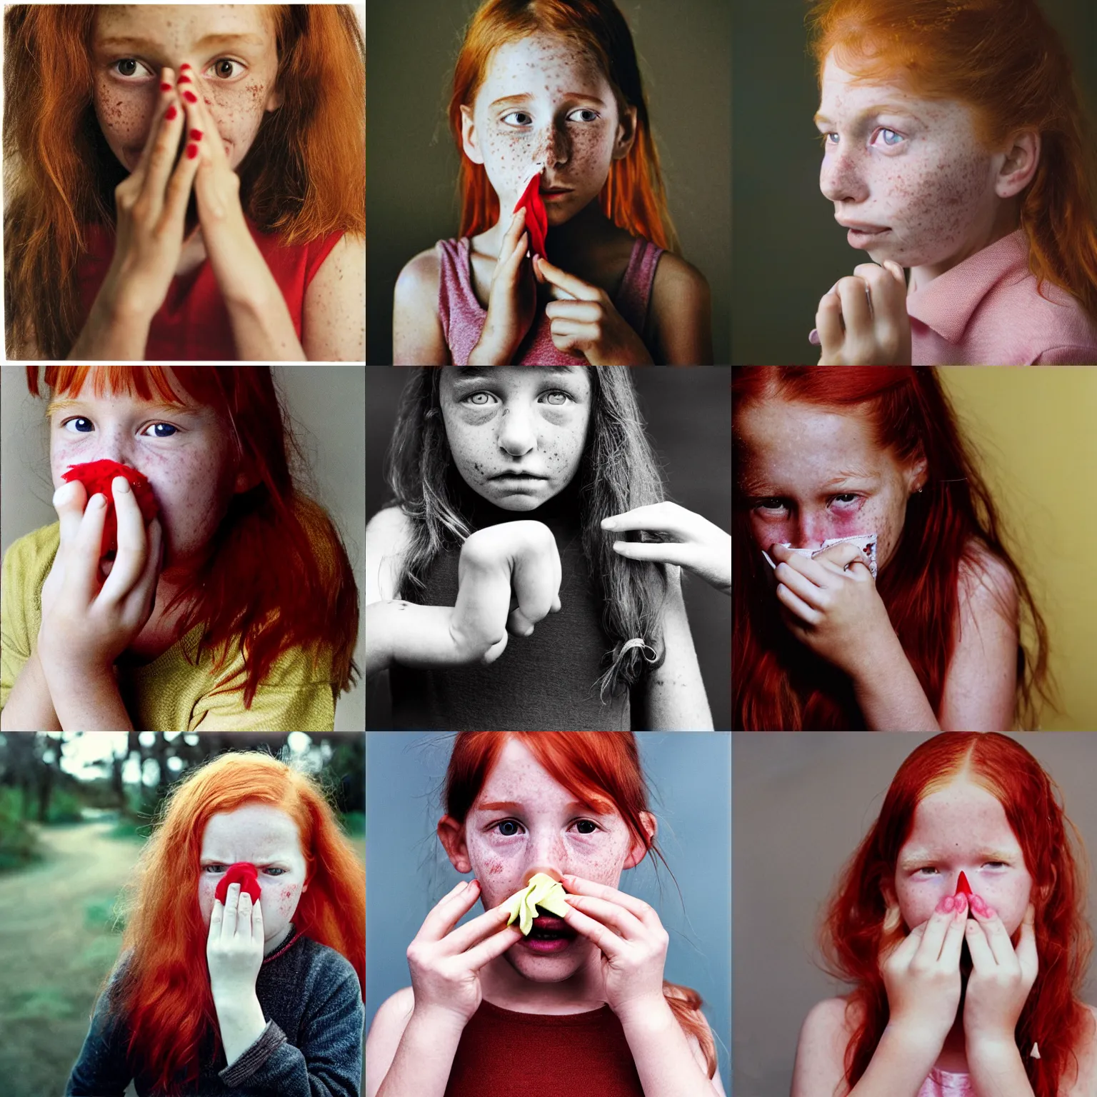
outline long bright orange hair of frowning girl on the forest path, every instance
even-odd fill
[[[294,930],[344,955],[365,994],[365,866],[323,789],[270,755],[218,755],[171,790],[127,889],[125,979],[112,1008],[126,1019],[134,1073],[166,1094],[196,1081],[220,1048],[197,903],[202,837],[211,816],[245,804],[269,804],[296,824],[308,889]]]

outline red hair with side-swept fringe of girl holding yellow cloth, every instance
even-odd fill
[[[606,812],[615,810],[633,841],[666,858],[649,839],[641,821],[648,811],[644,771],[632,732],[460,732],[445,771],[445,814],[462,827],[507,740],[528,747],[533,757],[577,800]],[[608,803],[607,803],[608,802]],[[667,866],[669,871],[670,867]],[[670,873],[674,877],[674,873]],[[704,1052],[709,1077],[716,1073],[712,1033],[697,1014],[703,1000],[688,986],[663,981],[667,1005],[687,1036],[695,1037]]]

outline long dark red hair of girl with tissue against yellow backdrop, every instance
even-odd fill
[[[1019,709],[1033,713],[1033,693],[1050,701],[1048,636],[1025,576],[1003,544],[991,493],[960,436],[955,412],[930,367],[743,366],[732,378],[732,445],[745,457],[736,423],[755,400],[784,399],[864,416],[877,444],[901,464],[921,457],[927,480],[907,502],[894,558],[877,581],[887,615],[935,712],[955,646],[961,563],[977,567],[979,546],[1013,576],[1027,607],[1034,653],[1018,652]],[[742,466],[743,461],[736,462]],[[733,727],[742,731],[821,731],[863,727],[852,686],[783,626],[760,570],[749,506],[736,485],[732,538]],[[1026,658],[1026,654],[1028,658]]]

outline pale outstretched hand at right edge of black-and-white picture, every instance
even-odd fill
[[[656,502],[623,514],[602,519],[602,529],[613,532],[646,530],[669,533],[677,541],[614,541],[613,551],[629,559],[678,564],[700,576],[711,587],[732,592],[732,536],[706,518],[677,502]]]

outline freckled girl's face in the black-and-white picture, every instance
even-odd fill
[[[497,507],[535,510],[578,471],[590,420],[585,366],[449,365],[439,398],[457,472]],[[501,475],[517,472],[535,478]]]

